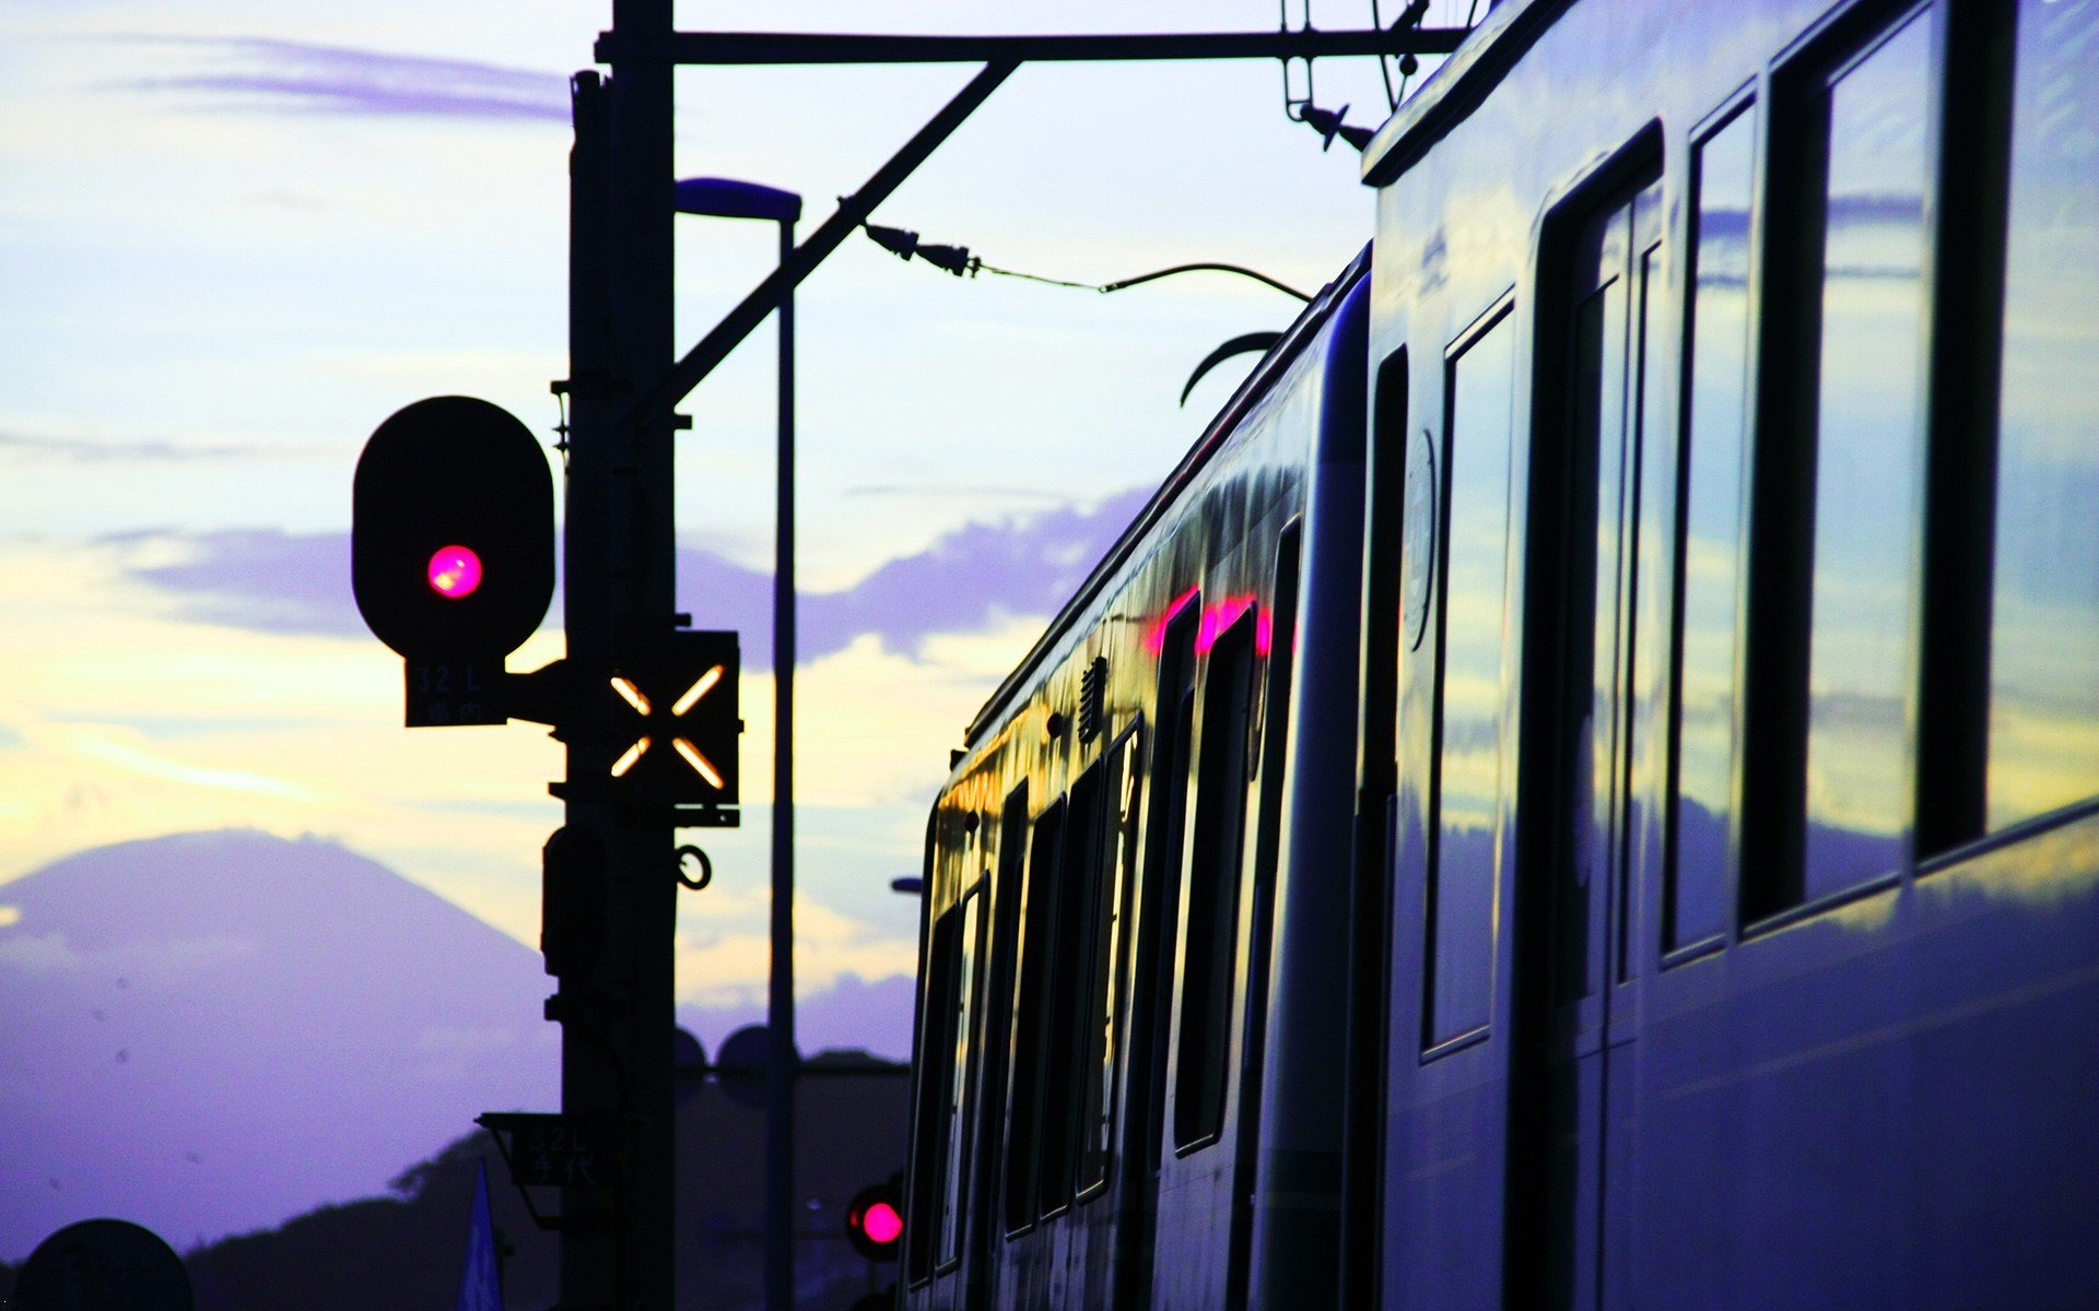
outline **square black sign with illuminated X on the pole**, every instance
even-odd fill
[[[613,692],[632,711],[632,738],[611,774],[651,801],[737,803],[737,633],[676,631],[644,667],[621,667]]]

